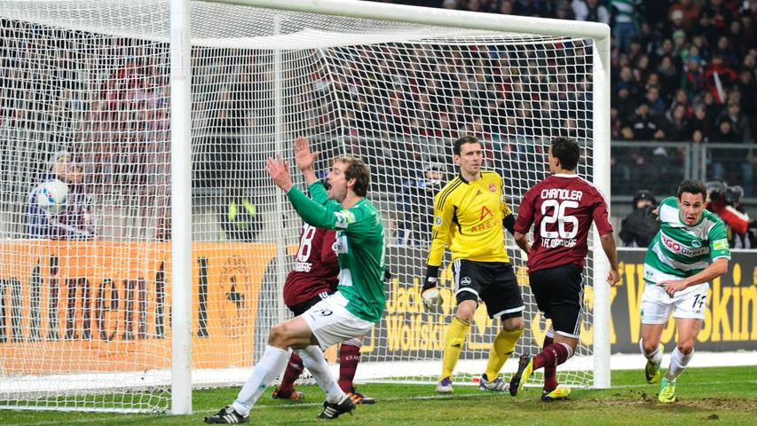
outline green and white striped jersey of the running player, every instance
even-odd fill
[[[647,283],[690,277],[714,259],[730,258],[725,225],[714,213],[704,210],[696,225],[686,225],[678,200],[668,197],[659,204],[659,221],[659,232],[644,257]]]

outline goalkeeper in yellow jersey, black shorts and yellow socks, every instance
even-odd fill
[[[484,154],[477,138],[459,138],[453,146],[454,162],[460,175],[442,188],[434,201],[434,225],[423,284],[423,303],[430,309],[441,304],[437,288],[439,264],[449,243],[452,251],[457,310],[446,328],[442,375],[436,391],[453,393],[452,374],[460,358],[462,344],[478,308],[480,297],[490,318],[500,318],[502,329],[494,338],[482,390],[504,391],[508,383],[500,369],[523,334],[523,297],[505,251],[504,226],[513,232],[515,217],[505,202],[502,178],[481,170]],[[528,243],[520,242],[528,251]]]

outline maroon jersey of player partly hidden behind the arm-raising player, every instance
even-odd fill
[[[336,231],[303,225],[295,265],[284,283],[284,304],[295,306],[327,291],[336,291],[339,262],[334,245]]]

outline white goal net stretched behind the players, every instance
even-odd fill
[[[514,210],[546,177],[553,137],[578,139],[580,175],[601,177],[592,159],[609,141],[595,138],[595,40],[197,1],[190,10],[191,140],[173,149],[191,144],[193,207],[180,215],[193,223],[192,282],[178,283],[169,1],[0,1],[0,406],[170,409],[177,285],[193,295],[193,387],[243,383],[270,327],[289,316],[281,288],[302,224],[264,160],[291,162],[300,135],[321,153],[319,173],[335,154],[370,165],[368,197],[388,232],[386,310],[356,381],[437,381],[454,312],[449,264],[438,312],[420,288],[433,195],[456,173],[453,141],[483,142]],[[540,350],[547,323],[509,235],[507,247],[527,306],[515,358]],[[560,383],[593,383],[594,273],[590,258],[580,345]],[[478,310],[455,383],[475,383],[500,327]],[[515,369],[511,359],[502,374]]]

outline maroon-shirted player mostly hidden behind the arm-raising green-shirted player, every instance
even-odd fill
[[[295,316],[302,315],[311,306],[335,293],[339,280],[339,263],[333,248],[335,242],[335,231],[303,225],[295,265],[284,282],[284,304]],[[352,385],[362,345],[363,339],[355,337],[339,347],[338,383],[355,404],[375,404],[375,398],[366,397]],[[292,352],[281,384],[273,390],[273,398],[304,398],[304,392],[295,390],[295,381],[303,373],[303,369],[303,359]]]

